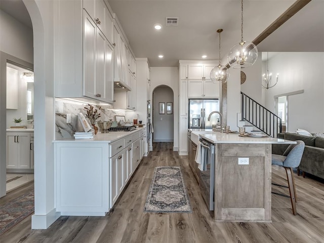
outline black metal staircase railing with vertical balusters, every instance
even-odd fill
[[[265,134],[276,138],[281,133],[281,118],[241,92],[241,120],[246,120]]]

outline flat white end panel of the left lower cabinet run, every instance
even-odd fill
[[[108,143],[56,142],[56,210],[104,216],[109,211]]]

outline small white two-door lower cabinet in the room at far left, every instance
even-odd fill
[[[33,169],[33,132],[7,132],[6,137],[7,169]]]

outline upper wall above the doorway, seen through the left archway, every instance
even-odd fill
[[[0,51],[33,63],[33,33],[0,9]]]

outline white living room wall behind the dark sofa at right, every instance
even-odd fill
[[[279,73],[278,84],[266,90],[265,105],[275,110],[274,96],[298,90],[289,96],[288,132],[305,129],[324,132],[324,53],[272,53],[269,71]]]

